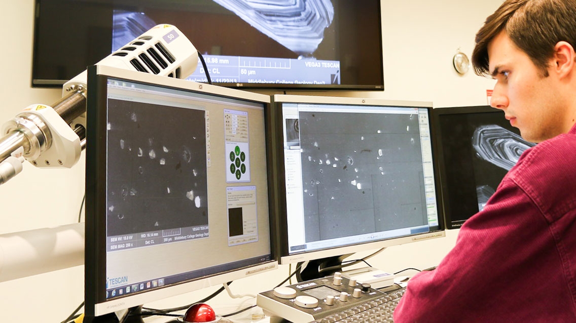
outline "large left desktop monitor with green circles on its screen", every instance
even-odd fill
[[[270,96],[92,66],[85,322],[277,268]]]

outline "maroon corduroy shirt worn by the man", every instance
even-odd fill
[[[576,322],[576,125],[522,154],[394,320]]]

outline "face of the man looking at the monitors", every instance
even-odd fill
[[[567,105],[555,75],[545,77],[505,31],[488,44],[488,59],[490,74],[497,80],[491,106],[503,110],[525,140],[539,143],[562,133]]]

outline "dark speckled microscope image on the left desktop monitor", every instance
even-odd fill
[[[204,111],[115,99],[109,107],[108,236],[207,225]]]

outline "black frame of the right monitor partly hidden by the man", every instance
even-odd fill
[[[440,172],[440,187],[441,187],[441,196],[442,196],[442,213],[444,213],[444,222],[446,225],[446,230],[452,229],[460,229],[460,227],[464,224],[465,220],[454,220],[452,217],[452,210],[450,209],[450,194],[448,189],[448,183],[446,182],[446,170],[448,167],[448,163],[444,157],[444,148],[442,147],[442,126],[441,126],[441,118],[442,116],[446,115],[454,115],[454,114],[478,114],[478,113],[501,113],[502,118],[504,118],[504,112],[500,109],[496,109],[495,107],[491,107],[489,105],[479,105],[479,106],[454,106],[454,107],[438,107],[432,111],[434,114],[434,128],[436,129],[435,134],[435,144],[437,149],[437,161],[438,161],[438,170]],[[470,215],[470,217],[473,214]]]

